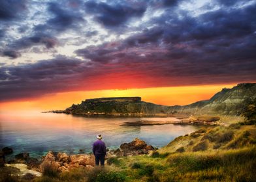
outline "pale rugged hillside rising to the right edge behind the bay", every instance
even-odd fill
[[[240,115],[244,107],[255,102],[256,84],[242,83],[233,88],[223,88],[212,98],[185,105],[177,109],[178,113],[187,114],[222,114]]]

